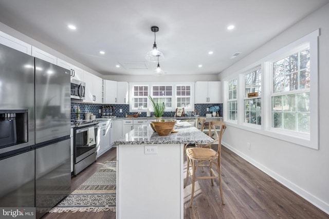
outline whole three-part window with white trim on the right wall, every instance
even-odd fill
[[[225,72],[229,76],[222,78],[227,81],[224,120],[230,126],[319,149],[319,33],[317,29],[233,75]],[[247,70],[254,66],[260,67]],[[259,95],[248,97],[253,92]]]

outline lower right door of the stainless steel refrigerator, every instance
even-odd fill
[[[70,139],[35,149],[36,218],[71,191]]]

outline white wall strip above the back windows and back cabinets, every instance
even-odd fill
[[[103,79],[117,82],[215,82],[218,75],[105,75]]]

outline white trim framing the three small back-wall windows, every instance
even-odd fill
[[[134,98],[134,86],[148,86],[149,95],[152,94],[152,86],[172,86],[173,87],[173,95],[172,95],[172,107],[166,108],[165,112],[173,112],[177,108],[177,95],[176,95],[176,86],[190,86],[191,87],[191,107],[185,107],[185,111],[194,111],[194,89],[195,89],[195,82],[148,82],[148,83],[140,83],[140,82],[130,82],[129,83],[129,96],[130,96],[130,102],[132,103],[129,106],[129,110],[131,112],[147,112],[147,109],[133,109],[133,98]],[[152,95],[151,95],[152,96]],[[148,108],[151,112],[153,112],[151,101],[148,97]]]

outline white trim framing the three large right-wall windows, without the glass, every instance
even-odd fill
[[[319,149],[319,97],[318,97],[318,36],[320,35],[320,30],[317,29],[312,33],[303,36],[297,41],[279,49],[278,51],[262,58],[257,63],[253,63],[252,65],[247,66],[244,69],[236,72],[235,75],[238,76],[237,81],[237,92],[238,92],[238,103],[237,103],[237,110],[238,110],[238,121],[230,121],[228,120],[227,113],[224,113],[224,121],[227,123],[228,126],[244,129],[247,131],[256,132],[262,135],[266,135],[269,137],[278,138],[283,141],[295,143],[301,146]],[[298,49],[299,46],[309,43],[310,48],[310,72],[311,72],[311,81],[310,81],[310,134],[299,134],[297,132],[291,132],[288,130],[273,130],[271,128],[271,95],[270,95],[270,87],[271,86],[271,75],[269,74],[270,71],[270,61],[278,59],[278,57],[282,57],[286,54],[289,54],[292,50]],[[243,75],[249,69],[254,68],[255,66],[261,65],[262,70],[262,125],[261,127],[254,127],[251,124],[245,124],[243,122],[243,95],[244,91],[242,91],[240,85],[243,82]],[[235,76],[236,77],[236,76]],[[226,101],[224,102],[224,109],[228,112],[228,82],[234,79],[230,75],[229,78],[224,78],[224,97]],[[281,93],[282,94],[282,93]],[[280,95],[281,95],[280,94]],[[242,111],[241,111],[242,110]],[[252,124],[253,125],[253,124]]]

